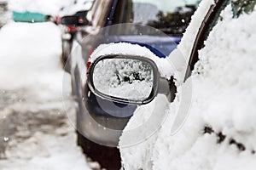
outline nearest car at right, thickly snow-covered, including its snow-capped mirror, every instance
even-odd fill
[[[128,43],[96,49],[91,91],[141,105],[119,140],[125,169],[256,168],[255,4],[203,0],[166,59]]]

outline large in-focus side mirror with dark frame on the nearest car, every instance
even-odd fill
[[[160,78],[154,61],[143,56],[100,56],[90,65],[87,78],[94,94],[125,104],[144,105],[158,93],[170,94],[169,82]]]

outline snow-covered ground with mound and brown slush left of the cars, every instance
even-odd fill
[[[95,163],[76,145],[62,107],[58,27],[10,23],[0,30],[0,47],[1,169],[90,169]]]

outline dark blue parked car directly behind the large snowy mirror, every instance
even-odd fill
[[[67,65],[72,65],[73,94],[79,102],[78,144],[102,167],[120,167],[116,146],[137,105],[113,103],[91,92],[85,79],[90,54],[102,43],[130,42],[148,48],[156,58],[166,57],[177,47],[198,4],[198,1],[178,2],[96,0],[87,15],[90,25],[81,31],[84,37],[79,41],[81,54],[77,54],[79,49],[74,48]],[[106,127],[118,133],[110,135],[106,133]]]

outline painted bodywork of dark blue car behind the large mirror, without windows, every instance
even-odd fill
[[[104,137],[100,138],[99,133],[94,133],[93,128],[95,127],[95,132],[98,132],[98,128],[96,126],[89,126],[88,119],[85,117],[88,116],[94,116],[96,117],[96,123],[98,123],[97,126],[109,126],[113,124],[113,122],[118,122],[116,117],[109,116],[112,114],[108,114],[108,111],[115,111],[122,115],[120,118],[120,122],[123,122],[123,125],[119,125],[119,128],[125,127],[126,122],[129,120],[129,118],[132,116],[133,112],[137,108],[136,105],[123,105],[123,104],[117,104],[115,105],[112,101],[108,101],[106,99],[100,99],[99,97],[96,97],[95,94],[92,94],[90,89],[87,88],[86,79],[84,79],[86,76],[86,66],[84,66],[88,59],[89,55],[93,50],[95,50],[100,44],[102,43],[110,43],[110,42],[130,42],[133,44],[138,44],[142,47],[146,47],[153,54],[156,54],[156,56],[160,58],[166,57],[167,54],[170,54],[174,48],[177,47],[177,43],[180,42],[181,35],[179,36],[172,36],[169,35],[166,37],[158,37],[158,36],[146,36],[146,35],[128,35],[128,36],[122,36],[122,35],[111,35],[108,33],[108,31],[102,31],[101,27],[105,26],[107,28],[108,26],[111,26],[111,18],[113,17],[114,8],[117,4],[117,0],[113,1],[104,1],[102,6],[99,6],[97,3],[102,3],[101,1],[96,1],[95,4],[97,4],[98,8],[95,6],[92,7],[92,11],[96,11],[96,14],[91,14],[91,25],[85,26],[82,30],[82,35],[85,37],[85,39],[79,39],[79,48],[82,49],[82,56],[72,56],[71,60],[72,63],[75,63],[71,68],[71,74],[73,78],[73,82],[80,83],[79,85],[76,83],[77,87],[81,87],[80,94],[82,103],[80,107],[83,105],[83,109],[80,108],[80,111],[78,113],[79,121],[78,121],[78,127],[79,127],[79,133],[84,134],[84,136],[88,139],[93,140],[94,142],[101,142],[105,144],[115,145],[117,144],[117,141],[114,141],[116,139],[119,139],[120,133],[115,133],[115,137],[112,135],[104,135]],[[98,11],[98,13],[97,13]],[[105,14],[104,14],[105,12]],[[90,14],[91,12],[89,12]],[[153,29],[153,28],[152,28]],[[83,33],[83,31],[86,31]],[[75,47],[73,47],[73,51],[77,51]],[[73,54],[72,54],[73,55]],[[75,59],[75,58],[79,58]],[[81,64],[83,62],[83,64]],[[83,65],[83,66],[80,66]],[[74,73],[75,70],[79,70],[80,77],[82,77],[84,80],[76,81]],[[99,102],[102,105],[108,105],[108,109],[104,109],[99,105]],[[113,108],[111,108],[112,106]],[[124,110],[121,110],[124,108]],[[107,110],[107,111],[106,111]],[[118,110],[118,111],[117,111]],[[124,118],[125,117],[125,118]],[[122,120],[123,119],[123,120]],[[97,121],[98,120],[98,121]],[[104,120],[104,121],[101,121]],[[120,129],[119,129],[120,130]],[[103,134],[102,134],[103,135]],[[100,141],[101,140],[101,141]]]

